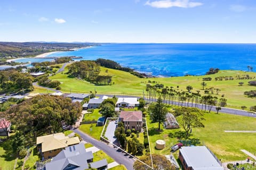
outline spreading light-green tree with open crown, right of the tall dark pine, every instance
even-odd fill
[[[175,109],[175,116],[181,116],[180,125],[186,131],[186,138],[192,128],[204,128],[202,121],[205,120],[204,114],[198,108],[181,107]]]

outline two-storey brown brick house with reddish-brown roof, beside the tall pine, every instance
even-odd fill
[[[141,111],[121,111],[119,121],[124,123],[124,129],[135,129],[141,131],[142,128],[142,112]]]

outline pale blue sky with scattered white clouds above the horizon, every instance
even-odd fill
[[[1,0],[0,41],[256,43],[256,1]]]

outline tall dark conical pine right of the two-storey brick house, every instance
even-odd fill
[[[153,122],[158,122],[158,130],[160,130],[160,124],[165,121],[167,108],[165,107],[162,98],[159,96],[156,103],[149,106],[150,119]]]

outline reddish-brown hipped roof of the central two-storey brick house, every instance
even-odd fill
[[[141,111],[121,111],[120,118],[124,118],[124,122],[142,122]]]

